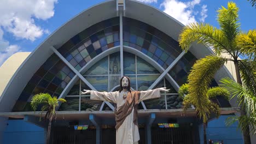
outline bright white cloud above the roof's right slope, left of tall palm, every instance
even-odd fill
[[[195,16],[198,11],[194,11],[195,5],[200,5],[201,0],[193,0],[189,2],[181,2],[178,0],[165,0],[161,3],[160,7],[164,7],[164,12],[184,25],[188,25],[189,23],[196,22]],[[199,20],[205,20],[207,17],[206,5],[202,7],[201,17]]]

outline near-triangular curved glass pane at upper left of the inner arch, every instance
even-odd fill
[[[107,75],[108,74],[108,57],[104,57],[87,70],[84,75]]]

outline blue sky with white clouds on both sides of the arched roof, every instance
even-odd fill
[[[127,0],[126,0],[127,1]],[[226,0],[137,0],[158,8],[188,25],[210,23],[219,27],[217,10]],[[104,0],[0,0],[0,66],[16,52],[32,52],[51,33],[82,11]],[[234,0],[240,8],[241,31],[256,28],[256,8]]]

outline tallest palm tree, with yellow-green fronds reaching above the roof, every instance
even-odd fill
[[[200,74],[202,77],[199,77],[199,80],[196,80],[198,77],[190,77],[189,83],[191,83],[191,86],[194,84],[194,88],[189,88],[191,91],[190,93],[196,94],[199,98],[202,96],[202,93],[205,93],[207,86],[210,83],[209,79],[214,76],[212,75],[212,72],[215,74],[217,71],[215,68],[210,67],[217,65],[219,69],[226,61],[234,62],[236,81],[242,85],[239,67],[240,60],[238,57],[247,56],[247,58],[252,61],[255,60],[256,30],[250,30],[247,33],[241,32],[240,23],[238,23],[238,8],[236,4],[234,2],[228,2],[228,8],[222,7],[218,10],[217,18],[220,28],[213,27],[207,23],[192,23],[185,26],[182,33],[179,35],[179,44],[183,50],[188,51],[191,43],[193,43],[193,41],[197,41],[197,43],[211,46],[217,55],[208,57],[208,60],[213,62],[212,64],[202,64],[203,67],[207,67],[205,70],[210,72],[209,74],[199,70],[199,73],[202,73]],[[220,57],[221,53],[228,53],[230,58]],[[207,63],[205,60],[204,62]],[[202,67],[199,69],[202,69]],[[214,71],[210,71],[208,69],[213,69]],[[197,71],[194,73],[197,73]],[[199,74],[197,73],[194,75]],[[208,77],[206,75],[211,75],[212,77]],[[198,87],[195,88],[195,86]],[[201,92],[197,94],[197,90]],[[241,104],[244,104],[243,99],[240,100]],[[205,107],[206,103],[202,106]],[[199,109],[203,107],[199,107]],[[245,107],[241,105],[241,108],[241,116],[245,116],[247,114],[244,109]],[[251,143],[250,135],[248,134],[249,127],[248,125],[245,127],[246,129],[243,129],[243,138],[245,143],[248,144]]]

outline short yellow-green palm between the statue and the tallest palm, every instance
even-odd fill
[[[198,100],[196,97],[197,95],[193,95],[189,92],[190,87],[190,83],[185,83],[182,85],[178,91],[179,97],[183,98],[184,111],[186,111],[191,105],[196,107],[197,116],[203,120],[203,143],[207,144],[206,127],[208,123],[208,117],[211,113],[215,113],[217,118],[220,115],[219,105],[214,103],[213,100],[216,99],[217,96],[223,96],[224,98],[228,99],[230,93],[225,88],[212,87],[207,89],[205,94],[206,97]],[[200,107],[203,107],[203,109]]]

